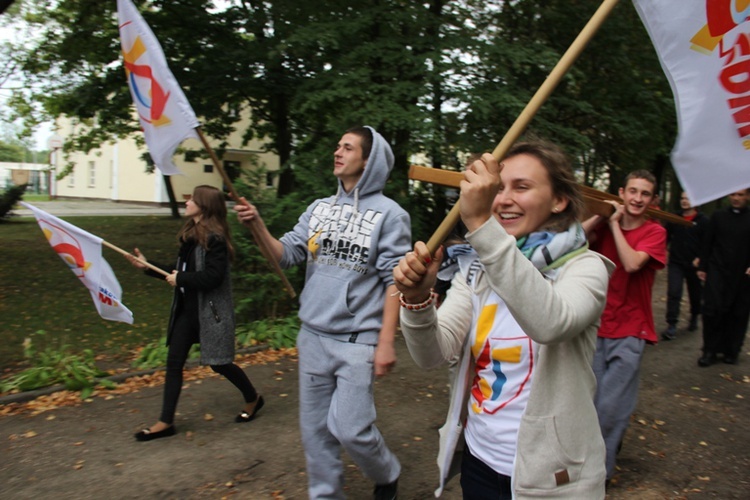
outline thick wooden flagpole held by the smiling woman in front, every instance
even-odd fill
[[[583,52],[586,44],[591,38],[593,38],[594,33],[596,33],[601,27],[604,20],[607,19],[607,16],[612,12],[612,9],[615,8],[617,2],[618,0],[604,0],[591,19],[589,19],[589,22],[586,23],[586,26],[583,27],[583,30],[581,30],[576,39],[573,40],[573,43],[568,47],[568,50],[563,54],[562,58],[560,58],[552,72],[547,76],[547,79],[541,87],[539,87],[536,94],[534,94],[534,97],[531,98],[508,132],[506,132],[505,137],[503,137],[492,152],[492,156],[497,158],[498,161],[505,157],[513,143],[521,136],[544,101],[547,100],[555,87],[557,87],[557,84],[560,83],[560,80],[565,76],[565,73],[568,72],[575,60],[581,52]],[[460,201],[461,200],[458,200],[456,204],[453,205],[451,211],[448,212],[448,215],[443,219],[443,222],[440,223],[440,226],[438,226],[435,233],[427,242],[427,249],[430,251],[430,254],[435,254],[435,251],[437,251],[440,244],[448,237],[451,230],[461,218],[461,211],[459,208]]]

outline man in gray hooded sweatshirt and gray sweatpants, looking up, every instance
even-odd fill
[[[307,263],[297,348],[310,498],[344,498],[343,447],[375,482],[375,498],[393,499],[401,465],[375,426],[372,386],[396,362],[392,272],[411,249],[411,222],[383,195],[393,152],[375,129],[347,130],[333,157],[336,194],[310,204],[280,239],[253,205],[235,210],[243,224],[256,221],[281,267]]]

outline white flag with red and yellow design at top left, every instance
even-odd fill
[[[149,153],[162,173],[179,174],[172,155],[185,139],[198,139],[200,123],[138,9],[130,0],[117,0],[117,15],[125,74]]]

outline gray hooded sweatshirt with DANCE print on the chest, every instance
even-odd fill
[[[281,267],[307,261],[299,317],[319,335],[377,344],[393,268],[411,250],[411,221],[383,195],[393,152],[375,129],[362,177],[349,193],[314,201],[281,237]]]

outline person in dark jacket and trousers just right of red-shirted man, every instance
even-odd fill
[[[670,222],[667,228],[669,262],[667,264],[667,329],[661,334],[663,340],[673,340],[677,336],[677,320],[680,317],[683,283],[687,284],[690,299],[690,322],[688,331],[698,328],[698,315],[701,312],[703,284],[698,278],[698,254],[701,235],[705,232],[708,217],[692,206],[686,193],[680,196],[682,217],[690,225]]]

